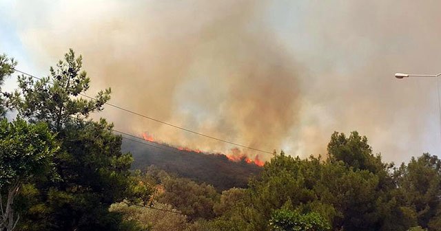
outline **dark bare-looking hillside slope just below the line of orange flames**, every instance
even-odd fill
[[[130,140],[123,140],[122,148],[134,157],[132,169],[145,170],[154,165],[168,173],[211,184],[217,190],[245,188],[249,177],[258,175],[262,170],[262,167],[247,163],[245,159],[232,162],[223,154],[183,151],[172,146],[160,149]]]

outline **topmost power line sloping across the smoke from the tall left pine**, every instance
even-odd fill
[[[21,74],[25,74],[25,75],[30,76],[30,77],[32,77],[32,78],[37,78],[38,80],[41,80],[41,79],[42,79],[42,78],[39,78],[39,77],[34,76],[34,75],[32,75],[32,74],[28,74],[28,73],[26,73],[26,72],[21,72],[21,71],[18,70],[18,69],[14,69],[14,70],[15,70],[16,72],[20,72]],[[86,98],[90,98],[90,99],[92,99],[92,100],[95,100],[95,99],[96,99],[96,98],[94,98],[94,97],[92,97],[92,96],[88,96],[88,95],[85,95],[85,94],[79,94],[79,95],[80,95],[80,96],[84,96],[84,97],[86,97]],[[150,117],[150,116],[143,115],[143,114],[141,114],[141,113],[137,113],[136,111],[132,111],[132,110],[129,110],[129,109],[125,109],[124,107],[120,107],[120,106],[118,106],[118,105],[111,104],[111,103],[109,103],[109,102],[105,102],[105,104],[108,105],[108,106],[110,106],[110,107],[114,107],[114,108],[116,108],[116,109],[120,109],[121,111],[125,111],[125,112],[127,112],[127,113],[132,113],[132,114],[134,114],[134,115],[138,115],[138,116],[140,116],[140,117],[142,117],[142,118],[146,118],[146,119],[148,119],[148,120],[153,120],[153,121],[155,121],[155,122],[159,122],[159,123],[161,123],[161,124],[165,124],[165,125],[167,125],[167,126],[172,126],[172,127],[174,127],[175,129],[181,129],[182,131],[187,131],[187,132],[189,132],[189,133],[193,133],[193,134],[196,134],[196,135],[201,135],[201,136],[203,136],[203,137],[207,137],[207,138],[212,139],[212,140],[217,140],[217,141],[219,141],[219,142],[224,142],[224,143],[227,143],[227,144],[233,144],[233,145],[235,145],[235,146],[240,146],[240,147],[242,147],[242,148],[248,148],[248,149],[253,150],[253,151],[259,151],[259,152],[262,152],[262,153],[273,154],[273,153],[270,152],[270,151],[264,151],[264,150],[261,150],[261,149],[258,149],[258,148],[254,148],[254,147],[252,147],[252,146],[246,146],[246,145],[238,144],[238,143],[231,142],[231,141],[228,141],[228,140],[223,140],[223,139],[220,139],[220,138],[214,137],[214,136],[212,136],[212,135],[206,135],[206,134],[204,134],[204,133],[199,133],[199,132],[197,132],[197,131],[192,131],[191,129],[186,129],[186,128],[182,127],[182,126],[177,126],[177,125],[171,124],[171,123],[169,123],[169,122],[165,122],[165,121],[163,121],[163,120],[158,120],[158,119],[156,119],[156,118],[152,118],[152,117]]]

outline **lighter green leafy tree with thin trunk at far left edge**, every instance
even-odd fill
[[[45,124],[0,120],[0,230],[14,230],[20,218],[14,199],[23,184],[50,175],[57,148]]]

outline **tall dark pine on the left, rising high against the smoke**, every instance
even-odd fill
[[[81,67],[81,56],[76,58],[70,50],[64,61],[50,68],[50,76],[39,80],[20,76],[19,90],[11,97],[19,115],[48,124],[61,147],[54,155],[60,180],[38,182],[39,212],[30,212],[23,225],[35,223],[41,230],[118,230],[121,214],[109,212],[109,206],[141,196],[143,190],[148,193],[130,176],[132,155],[121,153],[122,139],[112,133],[113,125],[104,119],[88,120],[110,100],[110,89],[95,98],[85,97],[90,78]]]

